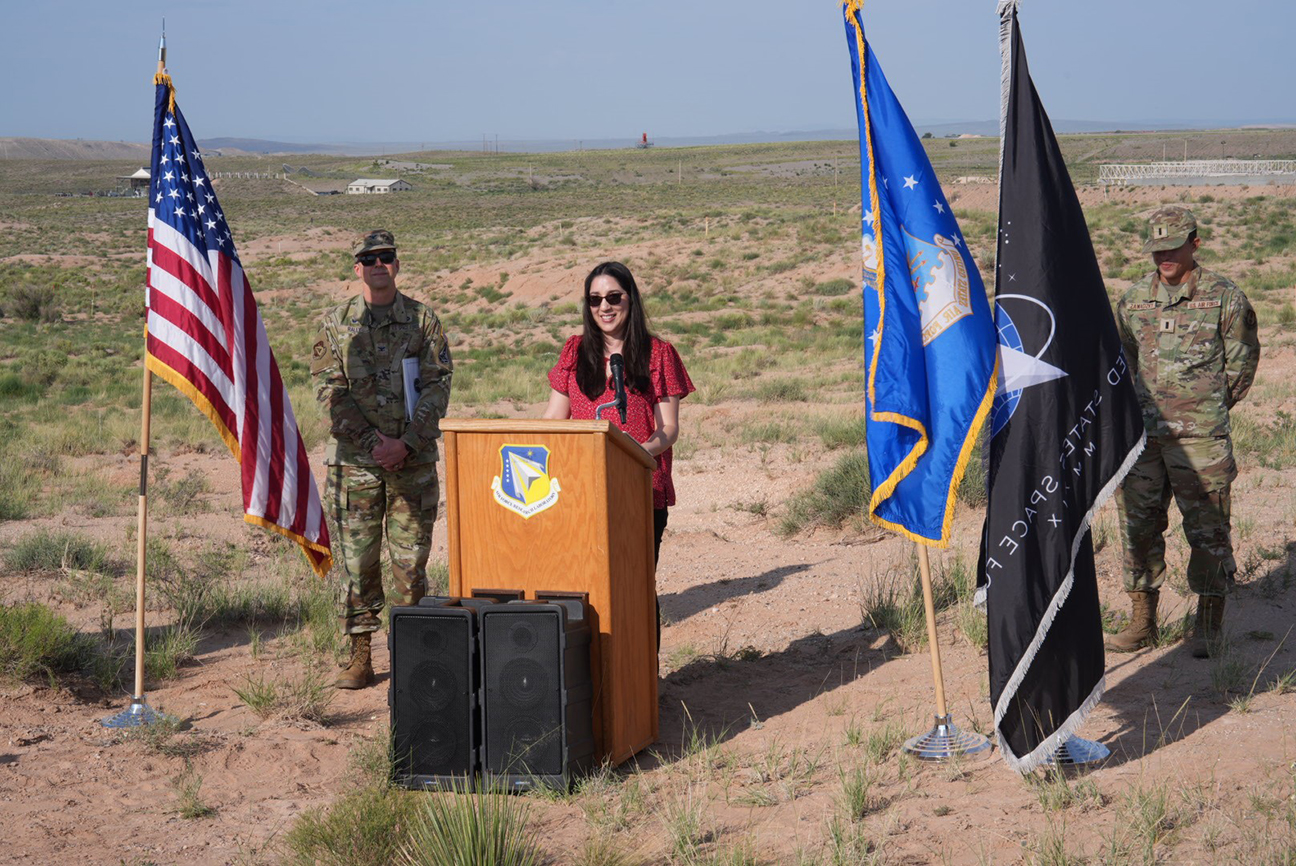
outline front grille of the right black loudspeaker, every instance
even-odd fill
[[[483,739],[491,773],[564,771],[561,627],[561,613],[551,607],[496,608],[482,616]]]

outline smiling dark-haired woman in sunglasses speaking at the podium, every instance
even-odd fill
[[[550,371],[547,419],[594,420],[595,408],[614,399],[610,360],[625,360],[626,421],[605,408],[612,421],[657,462],[652,473],[653,561],[661,551],[666,516],[675,504],[670,447],[679,438],[679,401],[693,390],[684,362],[665,340],[648,331],[635,277],[621,262],[604,262],[584,277],[581,305],[584,329],[562,346]]]

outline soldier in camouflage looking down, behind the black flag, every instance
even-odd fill
[[[1217,648],[1225,592],[1238,570],[1229,529],[1229,486],[1238,474],[1229,410],[1251,388],[1260,340],[1242,289],[1196,263],[1201,241],[1192,211],[1161,207],[1148,227],[1143,252],[1152,254],[1156,271],[1116,307],[1147,447],[1117,497],[1134,612],[1107,648],[1131,652],[1156,640],[1173,494],[1191,548],[1188,587],[1199,596],[1192,655],[1204,659]]]

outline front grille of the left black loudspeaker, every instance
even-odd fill
[[[393,616],[391,730],[402,774],[474,770],[470,640],[459,611]]]

